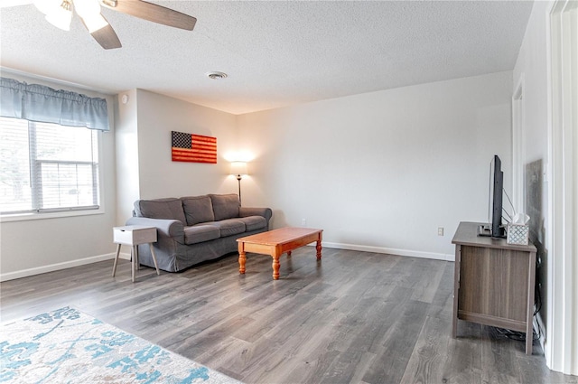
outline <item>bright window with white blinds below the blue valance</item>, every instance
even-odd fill
[[[0,213],[96,210],[98,131],[0,117]]]

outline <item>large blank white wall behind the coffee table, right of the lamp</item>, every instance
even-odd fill
[[[511,192],[511,89],[507,71],[239,116],[244,205],[329,247],[452,259],[458,223],[488,218],[494,154]]]

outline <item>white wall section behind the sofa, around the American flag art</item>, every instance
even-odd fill
[[[143,89],[125,93],[129,100],[119,105],[117,121],[118,224],[137,199],[237,192],[227,160],[237,146],[234,115]],[[217,164],[172,162],[171,131],[217,137]]]

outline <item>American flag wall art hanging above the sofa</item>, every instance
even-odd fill
[[[217,164],[217,137],[172,131],[172,161]]]

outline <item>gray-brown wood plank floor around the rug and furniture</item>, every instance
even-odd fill
[[[576,383],[543,351],[459,322],[453,263],[314,248],[281,258],[237,255],[184,273],[130,279],[112,260],[0,284],[5,323],[71,305],[247,383]]]

